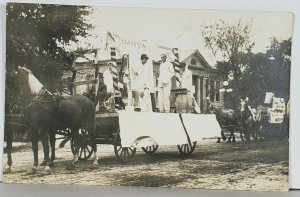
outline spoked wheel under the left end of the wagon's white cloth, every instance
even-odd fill
[[[114,151],[116,157],[121,163],[129,163],[135,155],[136,148],[122,147],[120,143],[120,134],[118,133],[115,138]]]

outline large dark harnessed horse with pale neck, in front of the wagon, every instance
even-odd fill
[[[94,103],[83,95],[74,95],[62,99],[48,91],[32,72],[24,67],[19,67],[15,80],[18,81],[20,95],[27,100],[28,105],[24,110],[26,123],[31,130],[32,151],[34,154],[33,173],[38,166],[38,140],[42,141],[45,161],[45,173],[51,171],[52,160],[49,157],[48,136],[50,144],[55,142],[55,130],[69,129],[74,139],[75,152],[71,167],[78,161],[81,139],[79,129],[88,131],[88,137],[94,151],[93,164],[98,164],[97,145],[95,142],[95,107]],[[32,99],[32,97],[34,98]],[[29,99],[31,98],[31,99]],[[52,139],[52,140],[51,140]]]

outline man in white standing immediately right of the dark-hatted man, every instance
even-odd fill
[[[170,112],[171,78],[175,71],[173,65],[166,61],[166,54],[161,55],[158,78],[158,109],[160,112]]]

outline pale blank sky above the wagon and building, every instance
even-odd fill
[[[236,25],[251,24],[253,52],[265,52],[270,38],[292,37],[293,14],[290,12],[215,11],[192,9],[151,9],[93,7],[88,20],[95,26],[90,39],[93,47],[106,43],[106,32],[113,32],[135,41],[159,44],[180,50],[198,49],[211,65],[217,58],[204,46],[201,29],[220,19]]]

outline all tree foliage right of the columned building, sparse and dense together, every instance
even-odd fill
[[[206,47],[217,58],[221,57],[216,68],[224,80],[233,75],[230,86],[234,91],[225,94],[226,107],[236,108],[241,97],[249,97],[252,104],[263,103],[266,92],[289,99],[291,38],[283,41],[272,38],[265,53],[254,54],[250,27],[220,20],[204,27],[202,33]]]

